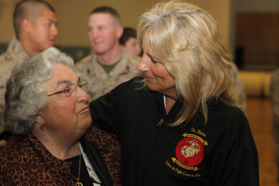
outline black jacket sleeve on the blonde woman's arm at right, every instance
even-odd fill
[[[249,123],[235,116],[213,150],[212,185],[259,185],[258,151]]]

